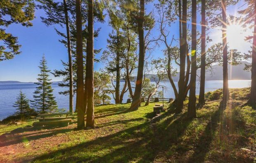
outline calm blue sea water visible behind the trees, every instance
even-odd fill
[[[123,83],[121,83],[122,86]],[[178,85],[175,82],[176,86]],[[218,88],[222,88],[222,81],[206,81],[205,91],[214,91]],[[169,82],[161,82],[162,86],[166,87],[164,90],[164,98],[174,98],[174,93]],[[230,88],[244,88],[251,85],[250,80],[230,80]],[[178,86],[177,86],[178,87]],[[52,88],[54,89],[53,94],[58,103],[59,108],[69,108],[69,96],[59,95],[59,91],[64,91],[67,88],[62,88],[57,85],[56,82],[52,83]],[[26,94],[27,98],[33,99],[33,92],[36,89],[36,84],[33,83],[24,83],[24,84],[0,84],[0,120],[5,119],[7,116],[12,115],[16,110],[12,107],[13,103],[16,101],[19,90],[22,90]],[[161,88],[160,88],[161,89]],[[199,94],[199,82],[197,83],[196,93]],[[111,96],[112,97],[112,96]],[[123,102],[126,102],[128,98],[128,92],[124,95]],[[76,99],[74,98],[74,101]],[[75,103],[75,102],[74,102]],[[114,103],[114,99],[111,99],[111,103]]]

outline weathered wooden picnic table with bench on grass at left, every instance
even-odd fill
[[[74,119],[72,112],[38,114],[36,117],[39,121],[34,122],[33,126],[67,126]]]

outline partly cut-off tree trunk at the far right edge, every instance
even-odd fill
[[[248,103],[256,109],[256,0],[254,0],[254,37],[251,55],[251,95]]]

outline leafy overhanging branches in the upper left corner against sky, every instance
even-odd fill
[[[5,29],[12,23],[22,26],[32,26],[34,19],[35,4],[33,0],[0,0],[0,61],[14,58],[20,54],[21,45],[18,37],[6,33]]]

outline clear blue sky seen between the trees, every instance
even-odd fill
[[[146,9],[147,12],[154,11],[154,2],[147,4]],[[236,6],[228,7],[228,14],[235,14],[237,12],[237,8],[242,6],[243,2],[239,2]],[[54,69],[62,69],[63,66],[60,60],[67,61],[68,55],[66,48],[63,44],[58,42],[60,37],[56,34],[54,30],[54,26],[47,27],[44,23],[41,22],[40,16],[44,16],[43,10],[36,10],[36,18],[32,21],[33,27],[23,27],[19,24],[12,24],[9,26],[6,31],[12,33],[14,36],[19,37],[19,44],[22,45],[21,51],[22,53],[18,56],[15,56],[14,59],[8,61],[0,62],[0,81],[6,80],[17,80],[17,81],[36,81],[37,74],[39,73],[39,62],[42,58],[43,54],[47,59],[48,67],[50,70]],[[200,22],[201,16],[200,13],[198,14],[198,23]],[[59,28],[58,26],[55,26]],[[108,17],[106,17],[105,23],[97,23],[95,22],[95,29],[101,27],[99,37],[95,38],[95,49],[101,49],[104,51],[107,45],[107,37],[109,33],[111,33],[112,29],[108,25]],[[200,31],[201,27],[197,26],[197,29]],[[170,36],[173,34],[176,38],[178,38],[178,23],[174,23],[170,27],[171,33]],[[65,31],[63,29],[63,31]],[[247,31],[250,34],[251,31]],[[157,36],[159,35],[158,26],[152,33]],[[211,30],[213,42],[210,43],[210,46],[213,43],[221,41],[221,33],[220,30]],[[210,34],[210,35],[211,35]],[[246,34],[243,34],[246,35]],[[236,38],[236,36],[235,36]],[[234,36],[232,36],[234,39]],[[237,42],[236,47],[238,50],[242,52],[246,52],[250,48],[249,43],[245,43],[243,38],[239,38],[240,42]],[[228,35],[229,41],[229,35]],[[234,46],[234,45],[233,45]],[[154,51],[152,51],[151,56],[154,58],[163,57],[162,49],[164,49],[163,45],[159,47],[155,47]],[[199,54],[199,52],[198,52]],[[100,58],[101,53],[97,54],[97,58]],[[102,63],[95,63],[95,70],[99,70],[100,68],[104,68]],[[178,68],[178,67],[177,67]],[[50,76],[52,81],[60,81],[61,78],[55,78],[52,75]]]

